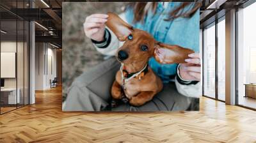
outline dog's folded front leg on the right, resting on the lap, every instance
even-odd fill
[[[156,93],[153,91],[141,91],[137,96],[133,96],[130,100],[130,104],[139,107],[146,102],[152,100]]]

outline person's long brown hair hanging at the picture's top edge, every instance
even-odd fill
[[[192,8],[188,11],[184,11],[184,8],[187,6],[193,5]],[[184,2],[180,4],[180,6],[177,6],[175,10],[172,10],[168,13],[168,19],[164,20],[173,20],[177,19],[178,17],[191,17],[193,14],[200,8],[201,2],[200,1],[195,1],[193,3],[191,2]],[[141,22],[145,16],[147,16],[147,13],[149,10],[152,10],[154,14],[156,14],[156,8],[157,8],[157,2],[136,2],[136,3],[129,3],[125,7],[125,10],[127,8],[132,8],[134,12],[134,19],[133,22]],[[143,21],[142,21],[143,22]]]

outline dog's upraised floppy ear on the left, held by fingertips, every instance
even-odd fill
[[[108,12],[108,21],[106,22],[106,26],[115,33],[119,41],[124,41],[132,32],[132,26],[118,17],[118,15],[111,12]]]

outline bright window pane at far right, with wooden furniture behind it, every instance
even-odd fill
[[[238,104],[256,109],[256,3],[237,11]]]

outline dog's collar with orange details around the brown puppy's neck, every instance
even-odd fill
[[[125,90],[126,89],[126,84],[129,80],[131,80],[134,77],[139,77],[139,79],[141,80],[141,77],[143,77],[147,72],[148,72],[148,64],[146,64],[142,70],[140,70],[139,72],[136,73],[128,73],[125,70],[125,66],[123,63],[121,63],[120,66],[120,72],[121,72],[121,77],[122,77],[122,87]]]

